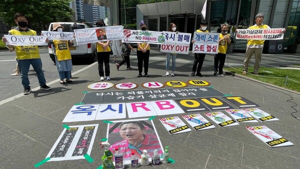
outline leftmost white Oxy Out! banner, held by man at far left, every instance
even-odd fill
[[[22,45],[48,45],[46,42],[46,36],[36,36],[36,35],[8,35],[4,34],[7,41],[5,44],[22,46]]]

